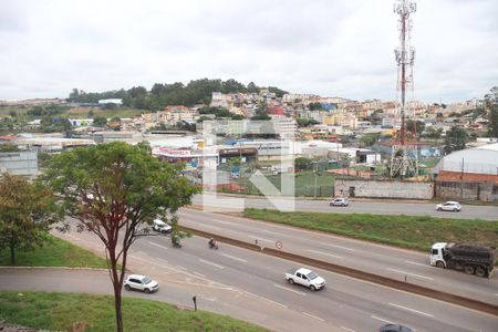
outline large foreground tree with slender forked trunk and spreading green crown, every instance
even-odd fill
[[[177,236],[177,210],[196,187],[181,176],[183,164],[163,163],[148,144],[98,144],[63,152],[48,162],[41,178],[59,193],[77,229],[93,232],[105,246],[114,288],[117,331],[123,331],[122,288],[133,242],[148,235],[155,218],[168,220]],[[121,264],[121,268],[118,268]]]

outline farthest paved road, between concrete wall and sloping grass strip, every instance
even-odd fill
[[[208,197],[211,197],[210,195]],[[221,196],[218,198],[236,199],[234,196]],[[238,198],[241,199],[241,198]],[[242,200],[241,200],[242,201]],[[195,205],[203,204],[203,196],[194,197]],[[231,205],[227,201],[207,203],[215,209],[226,209]],[[249,208],[274,208],[274,206],[264,198],[245,198],[243,206]],[[467,206],[464,205],[460,212],[436,211],[434,203],[403,203],[395,200],[365,200],[351,199],[350,206],[346,208],[331,207],[328,200],[297,199],[295,210],[312,212],[338,212],[338,214],[375,214],[375,215],[409,215],[409,216],[432,216],[445,218],[474,219],[480,218],[485,220],[498,221],[498,206]]]

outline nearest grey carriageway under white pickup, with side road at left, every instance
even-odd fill
[[[93,250],[101,248],[90,234],[64,237]],[[277,331],[375,331],[386,321],[436,332],[495,331],[498,326],[497,318],[489,314],[328,271],[319,270],[328,281],[323,291],[291,287],[283,280],[283,271],[294,263],[225,243],[220,243],[219,250],[211,250],[206,239],[197,237],[185,240],[181,249],[170,248],[163,236],[139,239],[129,263],[134,271],[160,282],[162,289],[153,299],[165,297],[169,301],[173,298],[170,302],[180,300],[181,304],[191,305],[190,297],[197,294],[204,309]],[[39,288],[46,284],[50,288],[52,283],[50,276],[46,282],[39,282],[39,276],[27,280],[19,276],[6,277],[2,271],[0,276],[0,289],[17,282],[19,288],[29,289],[35,283],[33,280]],[[75,290],[83,284],[85,288],[86,279],[68,278],[66,287]],[[60,288],[64,281],[56,279],[56,283]]]

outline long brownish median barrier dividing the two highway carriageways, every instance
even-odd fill
[[[211,234],[211,232],[204,231],[204,230],[198,230],[198,229],[194,229],[194,228],[189,228],[189,227],[185,227],[185,226],[178,226],[178,228],[180,230],[191,232],[196,236],[200,236],[200,237],[205,237],[205,238],[215,238],[219,242],[232,245],[236,247],[240,247],[240,248],[245,248],[245,249],[249,249],[249,250],[253,250],[253,251],[259,251],[264,255],[297,261],[297,262],[300,262],[300,263],[303,263],[307,266],[312,266],[312,267],[315,267],[319,269],[344,274],[344,276],[347,276],[351,278],[374,282],[374,283],[386,286],[390,288],[394,288],[394,289],[403,290],[403,291],[411,292],[414,294],[423,295],[426,298],[432,298],[432,299],[436,299],[439,301],[445,301],[445,302],[449,302],[449,303],[457,304],[460,307],[465,307],[465,308],[487,312],[487,313],[490,313],[494,315],[498,315],[498,305],[494,305],[491,303],[486,303],[486,302],[481,302],[478,300],[464,298],[460,295],[443,292],[439,290],[435,290],[435,289],[391,279],[387,277],[377,276],[377,274],[365,272],[362,270],[357,270],[357,269],[353,269],[353,268],[349,268],[349,267],[344,267],[344,266],[339,266],[339,264],[334,264],[331,262],[326,262],[326,261],[322,261],[322,260],[318,260],[318,259],[313,259],[313,258],[282,251],[282,250],[261,247],[257,243],[249,243],[249,242],[231,239],[228,237],[219,236],[219,235]]]

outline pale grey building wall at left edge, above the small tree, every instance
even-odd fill
[[[0,173],[37,176],[38,153],[33,151],[0,153]]]

